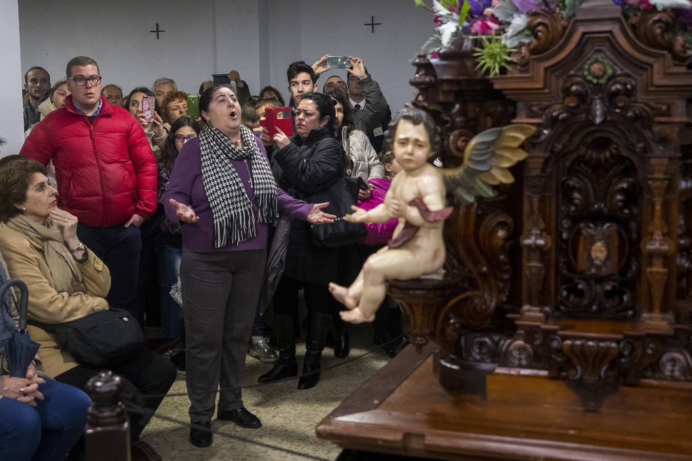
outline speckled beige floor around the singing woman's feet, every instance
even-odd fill
[[[372,344],[372,325],[351,328],[352,350],[347,359],[361,355],[375,348]],[[300,339],[298,366],[302,366],[304,346]],[[325,349],[322,367],[343,364],[347,359],[334,358],[331,349]],[[333,408],[352,393],[376,370],[384,366],[389,357],[382,350],[361,359],[322,373],[320,383],[307,391],[298,391],[297,379],[266,386],[255,386],[243,391],[246,407],[262,420],[260,429],[242,429],[232,422],[212,420],[212,430],[216,432],[212,446],[199,449],[188,442],[189,422],[187,397],[166,398],[158,410],[158,415],[174,418],[181,424],[154,417],[145,429],[142,438],[152,444],[164,460],[171,461],[210,461],[210,460],[304,460],[300,455],[279,451],[273,445],[305,453],[313,457],[334,460],[340,453],[338,446],[320,440],[315,435],[315,427]],[[257,383],[257,377],[271,368],[248,356],[244,386]],[[184,393],[185,379],[179,375],[170,393]],[[225,436],[227,435],[227,436]],[[246,441],[233,440],[235,436]]]

